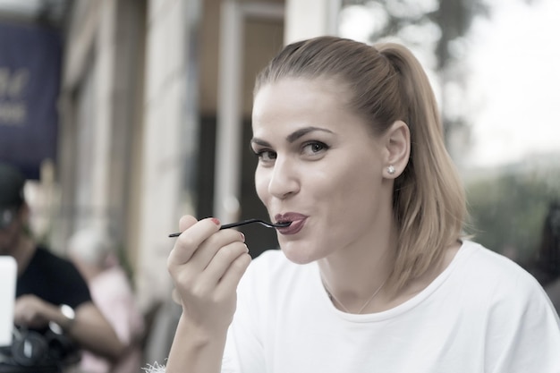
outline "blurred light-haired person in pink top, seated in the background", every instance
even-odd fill
[[[119,263],[109,235],[93,227],[74,233],[68,255],[89,285],[91,298],[115,328],[126,350],[118,360],[107,360],[93,352],[84,352],[84,373],[138,373],[141,366],[140,338],[144,320],[136,304],[129,277]]]

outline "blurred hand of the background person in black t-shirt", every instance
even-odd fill
[[[48,325],[51,315],[56,312],[54,304],[43,301],[35,295],[21,295],[15,300],[13,322],[18,326],[41,328]]]

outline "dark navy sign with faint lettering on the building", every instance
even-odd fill
[[[56,30],[0,23],[0,160],[30,179],[56,156],[61,49]]]

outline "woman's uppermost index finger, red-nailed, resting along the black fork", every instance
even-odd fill
[[[191,217],[183,216],[179,223],[188,228],[177,238],[174,248],[169,254],[167,259],[169,270],[188,262],[192,254],[198,250],[200,244],[207,240],[212,233],[216,233],[219,230],[220,223],[217,219],[208,218],[193,223],[192,219],[194,218],[191,219]]]

